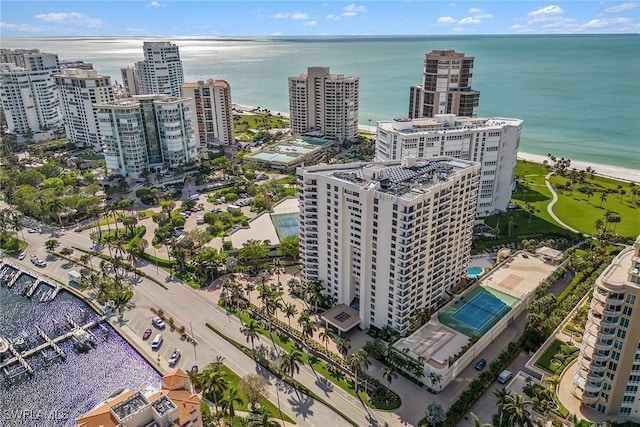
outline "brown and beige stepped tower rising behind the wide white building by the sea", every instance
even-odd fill
[[[480,92],[471,89],[473,56],[455,50],[434,50],[424,57],[422,83],[411,86],[409,117],[455,114],[475,117]]]

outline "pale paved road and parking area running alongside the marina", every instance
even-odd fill
[[[61,247],[82,247],[89,249],[93,242],[86,236],[74,232],[65,232],[61,235],[48,233],[25,233],[25,238],[29,242],[27,257],[20,261],[14,259],[17,264],[28,269],[35,269],[39,274],[49,276],[62,283],[68,282],[68,271],[78,266],[71,265],[64,259],[53,259],[47,257],[44,242],[55,238],[61,242]],[[40,259],[47,259],[47,267],[38,269],[29,262],[30,256],[35,254]],[[78,257],[78,251],[72,256]],[[94,266],[99,265],[100,259],[94,257]],[[331,423],[335,426],[349,425],[334,411],[315,401],[309,396],[297,394],[296,392],[281,392],[276,386],[276,380],[270,375],[260,371],[256,363],[229,344],[223,338],[215,334],[205,323],[209,322],[225,334],[239,342],[246,342],[245,336],[240,331],[240,321],[234,316],[229,316],[220,308],[216,301],[207,298],[205,292],[196,291],[178,281],[165,282],[166,272],[157,270],[155,265],[143,261],[138,267],[150,276],[165,283],[168,289],[164,289],[151,280],[141,278],[134,287],[135,296],[132,300],[133,307],[127,310],[120,319],[113,319],[114,327],[125,337],[129,338],[139,351],[144,353],[148,360],[155,361],[164,372],[168,371],[166,360],[178,347],[182,349],[182,359],[178,367],[189,369],[192,365],[205,366],[215,360],[216,356],[224,356],[224,363],[234,370],[238,375],[244,376],[249,373],[264,374],[269,382],[267,397],[274,403],[278,401],[282,410],[300,425],[314,426]],[[166,329],[163,334],[164,343],[159,351],[152,352],[148,343],[142,341],[144,329],[150,327],[150,318],[153,315],[151,308],[162,308],[167,317],[173,317],[177,325],[185,325],[187,332],[193,330],[193,335],[198,341],[198,345],[193,348],[182,341],[177,332]],[[153,335],[152,335],[153,336]],[[264,339],[263,339],[264,340]],[[265,343],[269,344],[269,343]],[[326,385],[320,381],[313,371],[306,365],[301,366],[300,373],[296,375],[296,380],[304,384],[318,396],[322,396],[338,410],[350,417],[358,425],[401,425],[392,415],[382,411],[373,411],[365,407],[362,403],[351,397],[339,387],[332,384]]]

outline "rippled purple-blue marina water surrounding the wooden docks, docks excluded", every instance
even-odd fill
[[[21,294],[21,279],[11,289],[0,284],[0,337],[26,336],[26,344],[33,346],[43,342],[36,325],[53,338],[68,330],[67,314],[81,325],[98,317],[86,303],[66,291],[54,301],[39,302],[39,295],[48,289],[46,285],[40,285],[33,298],[27,298]],[[31,378],[24,373],[9,381],[0,373],[0,426],[74,426],[77,417],[115,390],[139,390],[158,381],[160,375],[155,369],[111,326],[104,324],[104,329],[93,331],[97,345],[86,353],[78,353],[68,340],[59,344],[67,354],[66,360],[40,354],[27,358],[35,370]],[[46,352],[54,354],[51,348]]]

